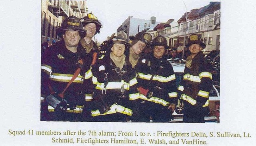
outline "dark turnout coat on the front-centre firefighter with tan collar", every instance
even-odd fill
[[[119,113],[125,116],[132,115],[129,97],[137,97],[137,80],[135,70],[125,61],[122,70],[105,54],[92,66],[92,82],[94,85],[92,117]],[[102,104],[110,107],[105,113],[98,110]]]

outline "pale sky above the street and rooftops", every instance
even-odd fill
[[[95,39],[102,42],[115,33],[129,16],[146,20],[155,16],[158,22],[166,22],[168,19],[177,22],[186,10],[190,12],[192,9],[208,5],[211,1],[220,2],[220,0],[87,0],[87,7],[88,12],[92,12],[103,24],[100,33],[95,35]]]

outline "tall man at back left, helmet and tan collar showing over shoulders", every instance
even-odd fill
[[[92,40],[92,38],[97,33],[100,33],[100,28],[102,27],[102,25],[98,18],[92,13],[87,14],[87,16],[81,19],[83,19],[82,24],[87,34],[85,37],[81,37],[82,39],[80,40],[79,45],[81,45],[86,50],[86,62],[92,62],[95,55],[99,53],[99,48],[97,44]],[[92,64],[95,63],[95,60],[96,59],[94,59],[94,62],[92,62]]]

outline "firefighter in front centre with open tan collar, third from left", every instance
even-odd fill
[[[124,55],[130,44],[124,31],[114,33],[109,41],[111,51],[92,66],[92,117],[93,121],[126,122],[132,116],[129,97],[139,95],[135,71]]]

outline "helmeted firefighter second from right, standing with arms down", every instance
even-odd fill
[[[134,105],[134,122],[169,122],[175,109],[175,75],[172,65],[164,58],[167,40],[163,36],[156,37],[152,48],[153,53],[136,65],[140,96],[130,98]]]

